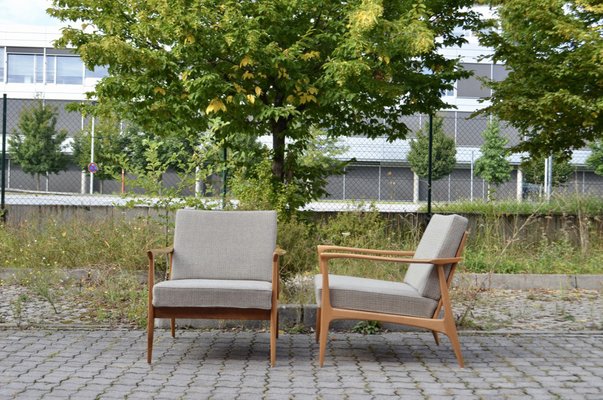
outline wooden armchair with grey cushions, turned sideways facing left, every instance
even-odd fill
[[[467,219],[434,215],[416,251],[386,251],[318,246],[320,275],[315,277],[316,340],[324,363],[327,333],[333,320],[376,320],[431,330],[450,339],[461,367],[463,356],[448,289],[467,238]],[[410,264],[404,282],[329,274],[329,260],[349,258]],[[440,316],[441,309],[443,316]]]

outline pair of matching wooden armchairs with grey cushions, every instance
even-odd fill
[[[415,252],[318,246],[316,339],[323,365],[329,324],[337,319],[378,320],[446,334],[459,365],[461,349],[448,288],[461,260],[467,220],[434,215]],[[279,256],[273,211],[179,210],[173,247],[150,250],[147,361],[155,318],[269,320],[270,364],[276,361]],[[169,279],[155,283],[155,259],[167,254]],[[332,259],[410,264],[404,282],[329,274]],[[323,290],[326,288],[326,290]],[[440,316],[443,308],[443,316]]]

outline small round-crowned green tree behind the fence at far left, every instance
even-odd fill
[[[24,172],[35,175],[40,190],[40,175],[56,174],[67,169],[69,157],[63,152],[67,131],[56,129],[57,112],[37,100],[21,112],[19,124],[8,140],[11,157]]]

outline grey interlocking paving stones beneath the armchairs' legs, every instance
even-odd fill
[[[2,399],[602,399],[603,335],[462,334],[466,368],[429,333],[0,330]]]

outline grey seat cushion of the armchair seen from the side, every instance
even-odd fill
[[[314,277],[314,288],[320,307],[322,275]],[[401,282],[329,274],[329,289],[336,308],[431,318],[438,304]]]

